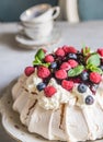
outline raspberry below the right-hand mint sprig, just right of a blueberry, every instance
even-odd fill
[[[101,75],[98,72],[90,73],[90,81],[93,83],[100,83],[102,80]]]

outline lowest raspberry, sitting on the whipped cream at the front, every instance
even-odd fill
[[[46,95],[46,97],[52,97],[55,93],[57,92],[57,90],[54,86],[46,86],[44,88],[44,93]]]

